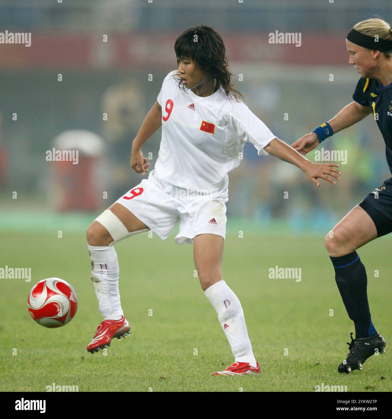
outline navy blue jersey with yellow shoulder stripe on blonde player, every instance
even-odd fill
[[[362,106],[371,107],[384,137],[385,155],[392,173],[392,83],[383,86],[375,79],[360,78],[353,99]]]

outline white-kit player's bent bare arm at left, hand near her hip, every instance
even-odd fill
[[[155,102],[145,117],[142,126],[139,129],[135,140],[132,141],[132,152],[131,152],[131,167],[142,175],[148,172],[147,158],[143,158],[142,147],[143,144],[156,132],[156,130],[162,125],[162,108],[158,102]],[[147,164],[146,164],[147,163]]]

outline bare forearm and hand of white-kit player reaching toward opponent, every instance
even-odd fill
[[[267,146],[264,147],[264,150],[268,154],[272,154],[280,160],[286,161],[287,163],[291,163],[294,166],[299,167],[302,171],[305,172],[306,176],[308,176],[308,179],[317,186],[320,186],[320,182],[317,181],[318,178],[325,179],[326,181],[335,184],[336,182],[329,176],[339,180],[337,175],[342,174],[337,169],[335,169],[335,167],[339,167],[338,164],[312,163],[310,160],[304,158],[303,155],[298,153],[298,151],[294,150],[285,142],[280,141],[278,138],[274,138]]]

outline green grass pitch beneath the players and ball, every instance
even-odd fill
[[[79,391],[314,391],[322,383],[347,385],[348,391],[392,390],[388,236],[359,251],[368,273],[372,318],[387,341],[386,353],[367,360],[363,371],[342,375],[337,365],[348,353],[345,343],[354,327],[323,236],[248,228],[239,238],[228,232],[223,279],[241,301],[262,371],[249,377],[210,376],[234,358],[193,276],[192,246],[176,245],[174,235],[163,242],[142,233],[117,243],[122,308],[132,334],[114,339],[106,355],[86,351],[101,315],[84,233],[57,238],[57,231],[2,231],[0,240],[0,266],[31,267],[32,272],[31,282],[0,279],[2,391],[46,391],[52,383],[78,385]],[[275,265],[301,268],[301,282],[269,279],[268,269]],[[29,290],[47,277],[65,279],[78,294],[78,312],[62,328],[39,326],[27,310]]]

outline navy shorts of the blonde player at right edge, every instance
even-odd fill
[[[358,205],[369,214],[376,225],[377,237],[392,232],[392,178],[374,189]]]

